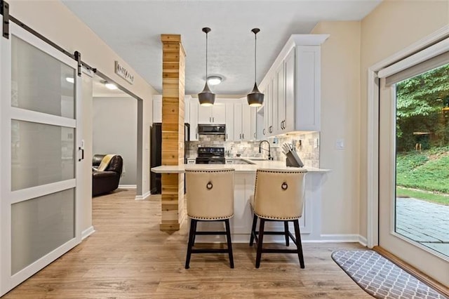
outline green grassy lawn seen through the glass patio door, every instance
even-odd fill
[[[397,188],[396,192],[400,196],[449,204],[449,197],[441,195],[449,194],[449,147],[398,153],[396,156],[396,185],[427,191],[419,192]]]

